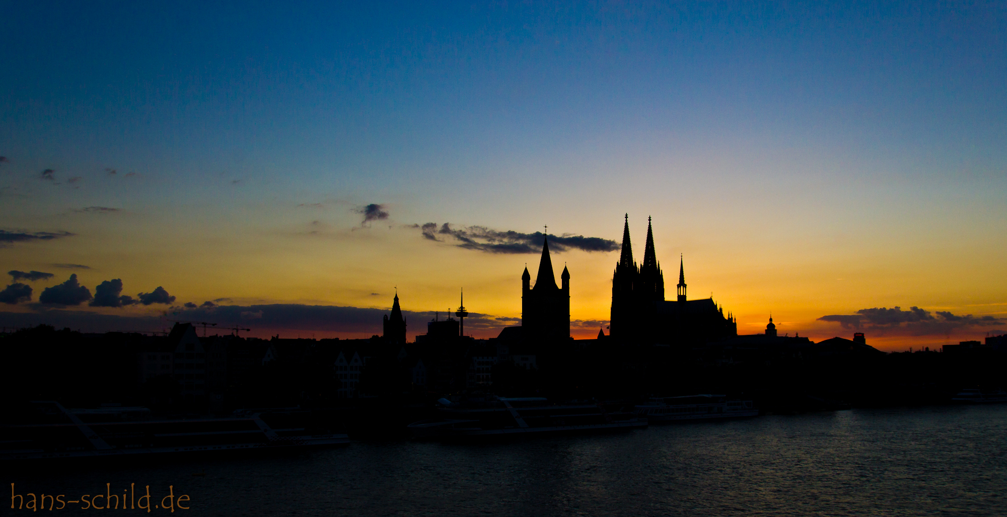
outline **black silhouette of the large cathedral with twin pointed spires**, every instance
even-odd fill
[[[648,218],[643,263],[632,258],[629,214],[622,230],[622,253],[612,275],[612,309],[609,335],[634,345],[695,345],[720,341],[738,334],[737,322],[713,298],[686,298],[685,260],[679,263],[675,301],[665,300],[665,276],[654,245]]]

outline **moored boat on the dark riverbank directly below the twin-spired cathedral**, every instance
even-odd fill
[[[699,394],[652,397],[637,404],[635,413],[652,422],[710,420],[758,416],[751,400],[729,400],[725,395]]]

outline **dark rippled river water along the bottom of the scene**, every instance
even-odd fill
[[[285,456],[7,474],[17,493],[69,500],[105,494],[106,483],[113,494],[136,483],[150,485],[156,503],[171,485],[190,498],[182,503],[190,509],[175,513],[193,516],[1007,515],[1007,404],[767,415],[485,445],[357,442]]]

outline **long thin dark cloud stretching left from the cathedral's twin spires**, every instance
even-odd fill
[[[419,228],[424,238],[451,242],[465,249],[490,253],[537,253],[542,251],[542,243],[545,240],[545,234],[541,231],[522,233],[514,230],[500,231],[485,226],[452,227],[448,222],[439,228],[437,223],[427,222]],[[549,235],[549,249],[555,252],[568,249],[613,251],[618,248],[617,242],[607,238],[585,237],[571,233]]]

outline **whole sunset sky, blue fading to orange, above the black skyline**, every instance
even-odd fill
[[[1007,333],[1003,2],[2,12],[0,325],[492,337],[548,231],[587,338],[628,214],[739,334]]]

